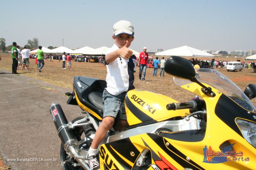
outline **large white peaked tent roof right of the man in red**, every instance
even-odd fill
[[[182,46],[166,51],[156,53],[155,55],[177,55],[177,56],[191,56],[191,57],[214,57],[214,55],[198,50],[196,48]]]

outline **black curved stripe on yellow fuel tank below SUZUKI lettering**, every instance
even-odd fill
[[[149,117],[144,112],[142,112],[140,109],[138,109],[136,106],[134,106],[130,99],[128,98],[127,94],[125,96],[125,104],[132,112],[132,114],[136,116],[141,122],[148,122],[154,120],[153,118]]]

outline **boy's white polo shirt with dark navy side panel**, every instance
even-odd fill
[[[108,49],[106,56],[119,49],[116,44]],[[107,91],[110,94],[118,95],[122,92],[127,92],[134,89],[134,72],[136,69],[136,56],[133,54],[131,58],[125,60],[121,56],[112,63],[107,65]]]

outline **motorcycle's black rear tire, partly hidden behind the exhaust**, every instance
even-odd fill
[[[72,121],[72,123],[83,119],[84,117],[77,117]],[[81,123],[86,123],[87,121],[81,122]],[[91,134],[95,134],[94,128],[92,128],[91,125],[85,125],[85,126],[78,126],[75,127],[74,129],[71,129],[72,133],[76,137],[77,141],[80,141],[81,139],[85,138],[86,136],[90,136]],[[78,148],[81,148],[83,146],[84,149],[89,149],[92,143],[92,139],[87,140],[86,143],[83,143],[78,146]],[[72,166],[72,164],[77,163],[74,158],[70,158],[66,151],[64,150],[64,147],[60,146],[60,162],[61,162],[61,167],[63,170],[83,170],[83,167],[81,166]]]

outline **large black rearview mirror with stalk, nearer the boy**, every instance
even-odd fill
[[[193,64],[186,58],[179,56],[171,56],[164,66],[164,70],[167,74],[170,74],[176,78],[182,78],[197,83],[202,88],[204,94],[209,97],[214,97],[216,94],[212,92],[211,87],[206,87],[196,79],[196,71]]]

